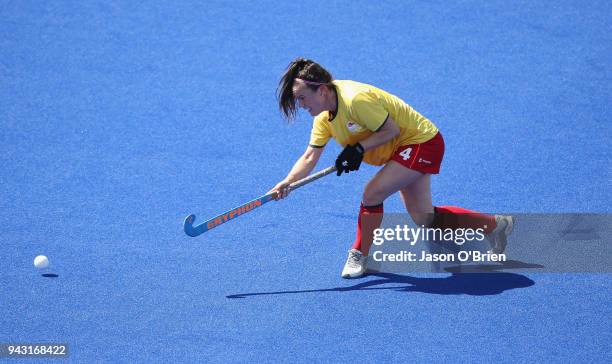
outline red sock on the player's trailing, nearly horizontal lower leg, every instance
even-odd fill
[[[434,211],[434,222],[432,224],[434,228],[484,229],[485,234],[490,234],[497,226],[495,216],[457,206],[436,206]]]

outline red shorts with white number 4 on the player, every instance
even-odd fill
[[[421,173],[438,174],[443,157],[444,138],[438,132],[424,143],[402,145],[393,153],[391,160]]]

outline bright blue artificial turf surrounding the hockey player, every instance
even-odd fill
[[[609,273],[341,279],[373,167],[182,231],[305,149],[310,117],[287,124],[275,98],[297,56],[436,123],[434,204],[610,212],[610,4],[2,1],[0,344],[68,343],[75,362],[612,361]]]

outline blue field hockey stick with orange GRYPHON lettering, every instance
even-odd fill
[[[299,181],[293,182],[289,185],[289,191],[297,190],[298,188],[309,184],[310,182],[316,181],[323,176],[327,176],[330,173],[336,171],[336,167],[328,167],[324,170],[321,170],[317,173],[311,174],[310,176],[304,177]],[[274,200],[276,197],[276,192],[270,192],[265,194],[259,198],[256,198],[252,201],[249,201],[245,204],[242,204],[238,207],[235,207],[229,211],[222,213],[221,215],[215,216],[210,220],[206,220],[203,223],[193,226],[193,222],[195,221],[195,215],[189,215],[185,218],[185,222],[183,223],[183,229],[185,230],[185,234],[195,237],[202,233],[207,232],[208,230],[215,228],[221,224],[224,224],[232,219],[237,218],[240,215],[246,214],[247,212],[251,212],[253,209]]]

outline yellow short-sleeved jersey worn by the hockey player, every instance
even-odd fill
[[[329,111],[313,120],[310,145],[324,147],[334,138],[342,147],[356,144],[382,127],[390,115],[400,129],[399,134],[363,156],[366,163],[382,165],[403,145],[421,144],[438,133],[438,128],[399,97],[365,83],[348,80],[332,81],[338,97],[338,110],[332,118]]]

